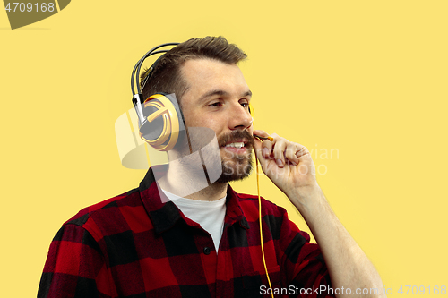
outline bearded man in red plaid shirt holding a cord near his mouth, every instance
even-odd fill
[[[196,38],[168,51],[151,77],[143,74],[145,98],[176,94],[189,137],[197,127],[216,134],[222,174],[184,192],[201,171],[170,163],[156,182],[159,168],[152,167],[139,188],[80,211],[50,246],[39,297],[368,296],[364,289],[383,295],[381,278],[316,183],[308,150],[277,134],[254,138],[269,135],[253,130],[252,92],[237,67],[245,58],[224,38]],[[185,147],[179,140],[169,160],[185,157]],[[262,200],[262,253],[258,200],[228,185],[249,175],[253,148],[318,244],[284,209]]]

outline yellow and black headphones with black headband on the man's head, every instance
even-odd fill
[[[151,65],[148,74],[143,79],[142,84],[139,82],[140,69],[146,58],[151,55],[163,54],[168,49],[158,50],[160,47],[177,46],[178,43],[167,43],[151,50],[142,56],[135,64],[131,75],[131,89],[133,91],[133,105],[139,119],[139,131],[142,140],[159,151],[168,151],[173,149],[179,139],[179,132],[185,131],[184,115],[177,103],[174,94],[166,94],[159,92],[144,99],[142,89],[146,82],[150,79],[152,72],[156,69],[163,55]],[[134,85],[137,86],[135,92]],[[143,100],[144,99],[144,100]]]

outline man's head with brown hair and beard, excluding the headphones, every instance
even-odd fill
[[[225,38],[190,39],[160,59],[143,89],[144,98],[175,93],[187,128],[206,127],[216,133],[222,183],[243,179],[252,169],[254,138],[248,111],[252,93],[237,66],[245,58]],[[198,137],[190,135],[190,140]]]

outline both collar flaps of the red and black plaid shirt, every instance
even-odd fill
[[[163,192],[161,194],[159,193],[159,188],[154,178],[154,172],[159,170],[163,171],[163,166],[151,166],[139,186],[143,206],[151,218],[152,225],[157,234],[165,232],[171,226],[174,226],[177,220],[184,218],[179,209],[177,209],[177,206],[171,200],[168,200]],[[248,229],[249,224],[239,204],[238,193],[230,185],[228,185],[226,204],[227,211],[224,226],[232,226],[238,222],[240,226]]]

